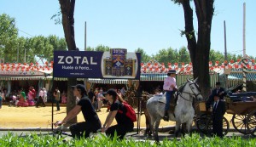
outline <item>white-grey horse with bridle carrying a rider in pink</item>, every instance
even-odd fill
[[[185,82],[183,86],[178,88],[177,105],[174,110],[174,114],[169,110],[169,120],[176,122],[175,134],[180,131],[181,124],[186,124],[186,131],[188,133],[191,130],[193,117],[195,110],[193,109],[193,98],[197,100],[203,99],[201,91],[196,84],[197,78],[194,81]],[[166,95],[154,95],[154,97],[148,99],[147,109],[150,116],[150,129],[154,134],[155,141],[159,142],[158,128],[160,120],[165,114]]]

